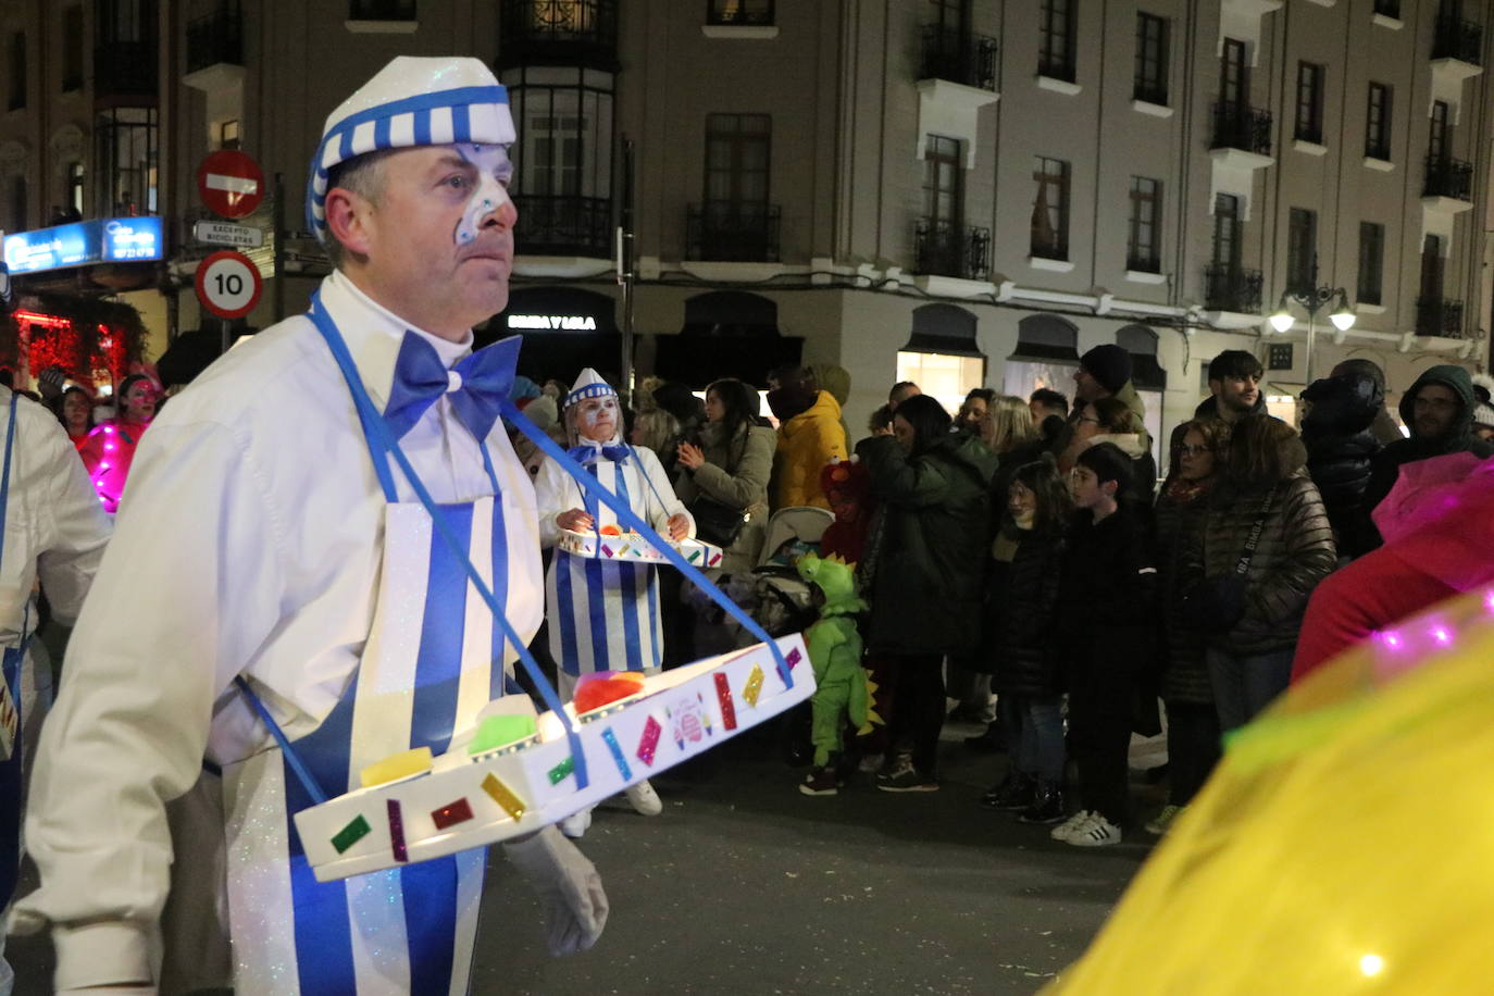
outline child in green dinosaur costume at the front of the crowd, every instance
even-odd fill
[[[871,711],[867,672],[861,666],[861,633],[856,612],[867,603],[856,597],[855,569],[840,557],[805,554],[798,563],[799,576],[820,593],[820,618],[805,633],[810,664],[814,667],[814,768],[799,784],[807,796],[834,796],[840,787],[837,766],[841,754],[841,729],[846,717],[867,733],[880,718]]]

